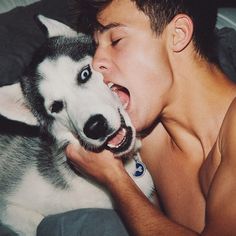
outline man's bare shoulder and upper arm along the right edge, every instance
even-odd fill
[[[202,235],[236,235],[236,99],[225,115],[219,138],[221,161],[207,194],[206,227]]]

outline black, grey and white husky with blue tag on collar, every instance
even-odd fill
[[[136,134],[118,96],[91,67],[92,40],[38,16],[48,40],[20,83],[0,88],[0,114],[38,126],[39,136],[0,134],[0,221],[32,236],[44,216],[86,207],[112,208],[102,186],[81,175],[64,148],[111,150],[149,196],[153,183],[136,151]]]

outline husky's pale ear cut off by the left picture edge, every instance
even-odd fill
[[[0,87],[0,115],[27,125],[39,125],[25,103],[20,83]]]

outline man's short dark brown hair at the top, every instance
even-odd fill
[[[77,30],[92,33],[97,26],[97,15],[112,0],[73,0],[76,6]],[[216,62],[214,45],[217,18],[217,0],[131,0],[150,19],[152,30],[160,35],[166,25],[180,13],[187,14],[193,21],[193,42],[196,51],[210,62]],[[127,12],[127,14],[129,14]]]

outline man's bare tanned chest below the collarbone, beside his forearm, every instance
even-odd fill
[[[190,146],[187,143],[183,149],[170,145],[168,140],[159,146],[151,143],[143,157],[165,214],[200,232],[205,222],[205,194],[218,167],[215,161],[218,155],[213,147],[207,158],[199,143],[194,146],[194,140]]]

